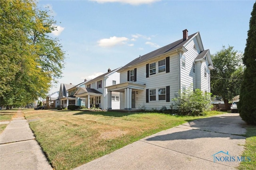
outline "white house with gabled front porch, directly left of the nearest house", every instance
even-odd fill
[[[108,72],[105,74],[86,81],[85,87],[78,88],[74,94],[76,100],[78,100],[78,98],[84,99],[87,108],[95,106],[102,109],[108,109],[110,105],[109,102],[112,101],[113,108],[120,109],[119,92],[112,92],[112,94],[110,93],[109,95],[106,90],[106,86],[120,83],[120,73],[117,72],[120,68],[112,71],[108,69]]]

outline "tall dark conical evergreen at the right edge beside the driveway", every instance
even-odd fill
[[[256,2],[251,15],[243,58],[246,68],[238,109],[244,121],[256,125]]]

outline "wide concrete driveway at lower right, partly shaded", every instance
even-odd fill
[[[232,170],[244,150],[246,123],[227,113],[161,131],[75,170]],[[234,157],[233,157],[234,156]],[[233,159],[234,158],[234,159]],[[224,160],[226,159],[226,160]]]

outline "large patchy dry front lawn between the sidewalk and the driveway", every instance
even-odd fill
[[[72,169],[143,137],[207,116],[160,113],[24,110],[54,169]]]

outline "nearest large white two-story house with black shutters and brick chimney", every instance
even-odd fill
[[[118,70],[120,84],[108,93],[120,92],[120,109],[170,108],[172,99],[188,88],[210,92],[210,51],[204,50],[200,33],[188,36],[138,57]],[[110,102],[109,108],[112,108]]]

